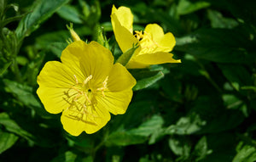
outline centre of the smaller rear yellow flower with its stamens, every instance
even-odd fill
[[[154,41],[153,36],[147,31],[135,31],[135,37],[140,42],[142,51],[140,53],[154,53],[159,44]]]

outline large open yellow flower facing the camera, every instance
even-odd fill
[[[61,53],[61,62],[49,61],[38,75],[38,97],[52,114],[62,112],[61,123],[73,136],[94,133],[113,115],[124,114],[131,102],[135,79],[97,42],[76,41]]]

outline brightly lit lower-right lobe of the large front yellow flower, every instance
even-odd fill
[[[122,115],[125,113],[131,102],[132,90],[127,89],[121,92],[105,92],[105,97],[97,95],[96,100],[101,107],[108,109],[113,115]]]

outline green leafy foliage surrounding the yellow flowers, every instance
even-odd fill
[[[60,59],[70,22],[126,64],[136,47],[122,54],[115,42],[113,4],[131,8],[135,30],[172,32],[182,63],[129,70],[137,85],[126,113],[72,137],[45,111],[37,75]],[[255,161],[254,10],[247,0],[0,0],[0,161]]]

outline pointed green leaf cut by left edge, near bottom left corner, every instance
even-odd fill
[[[0,154],[11,148],[18,139],[13,133],[0,131]]]

